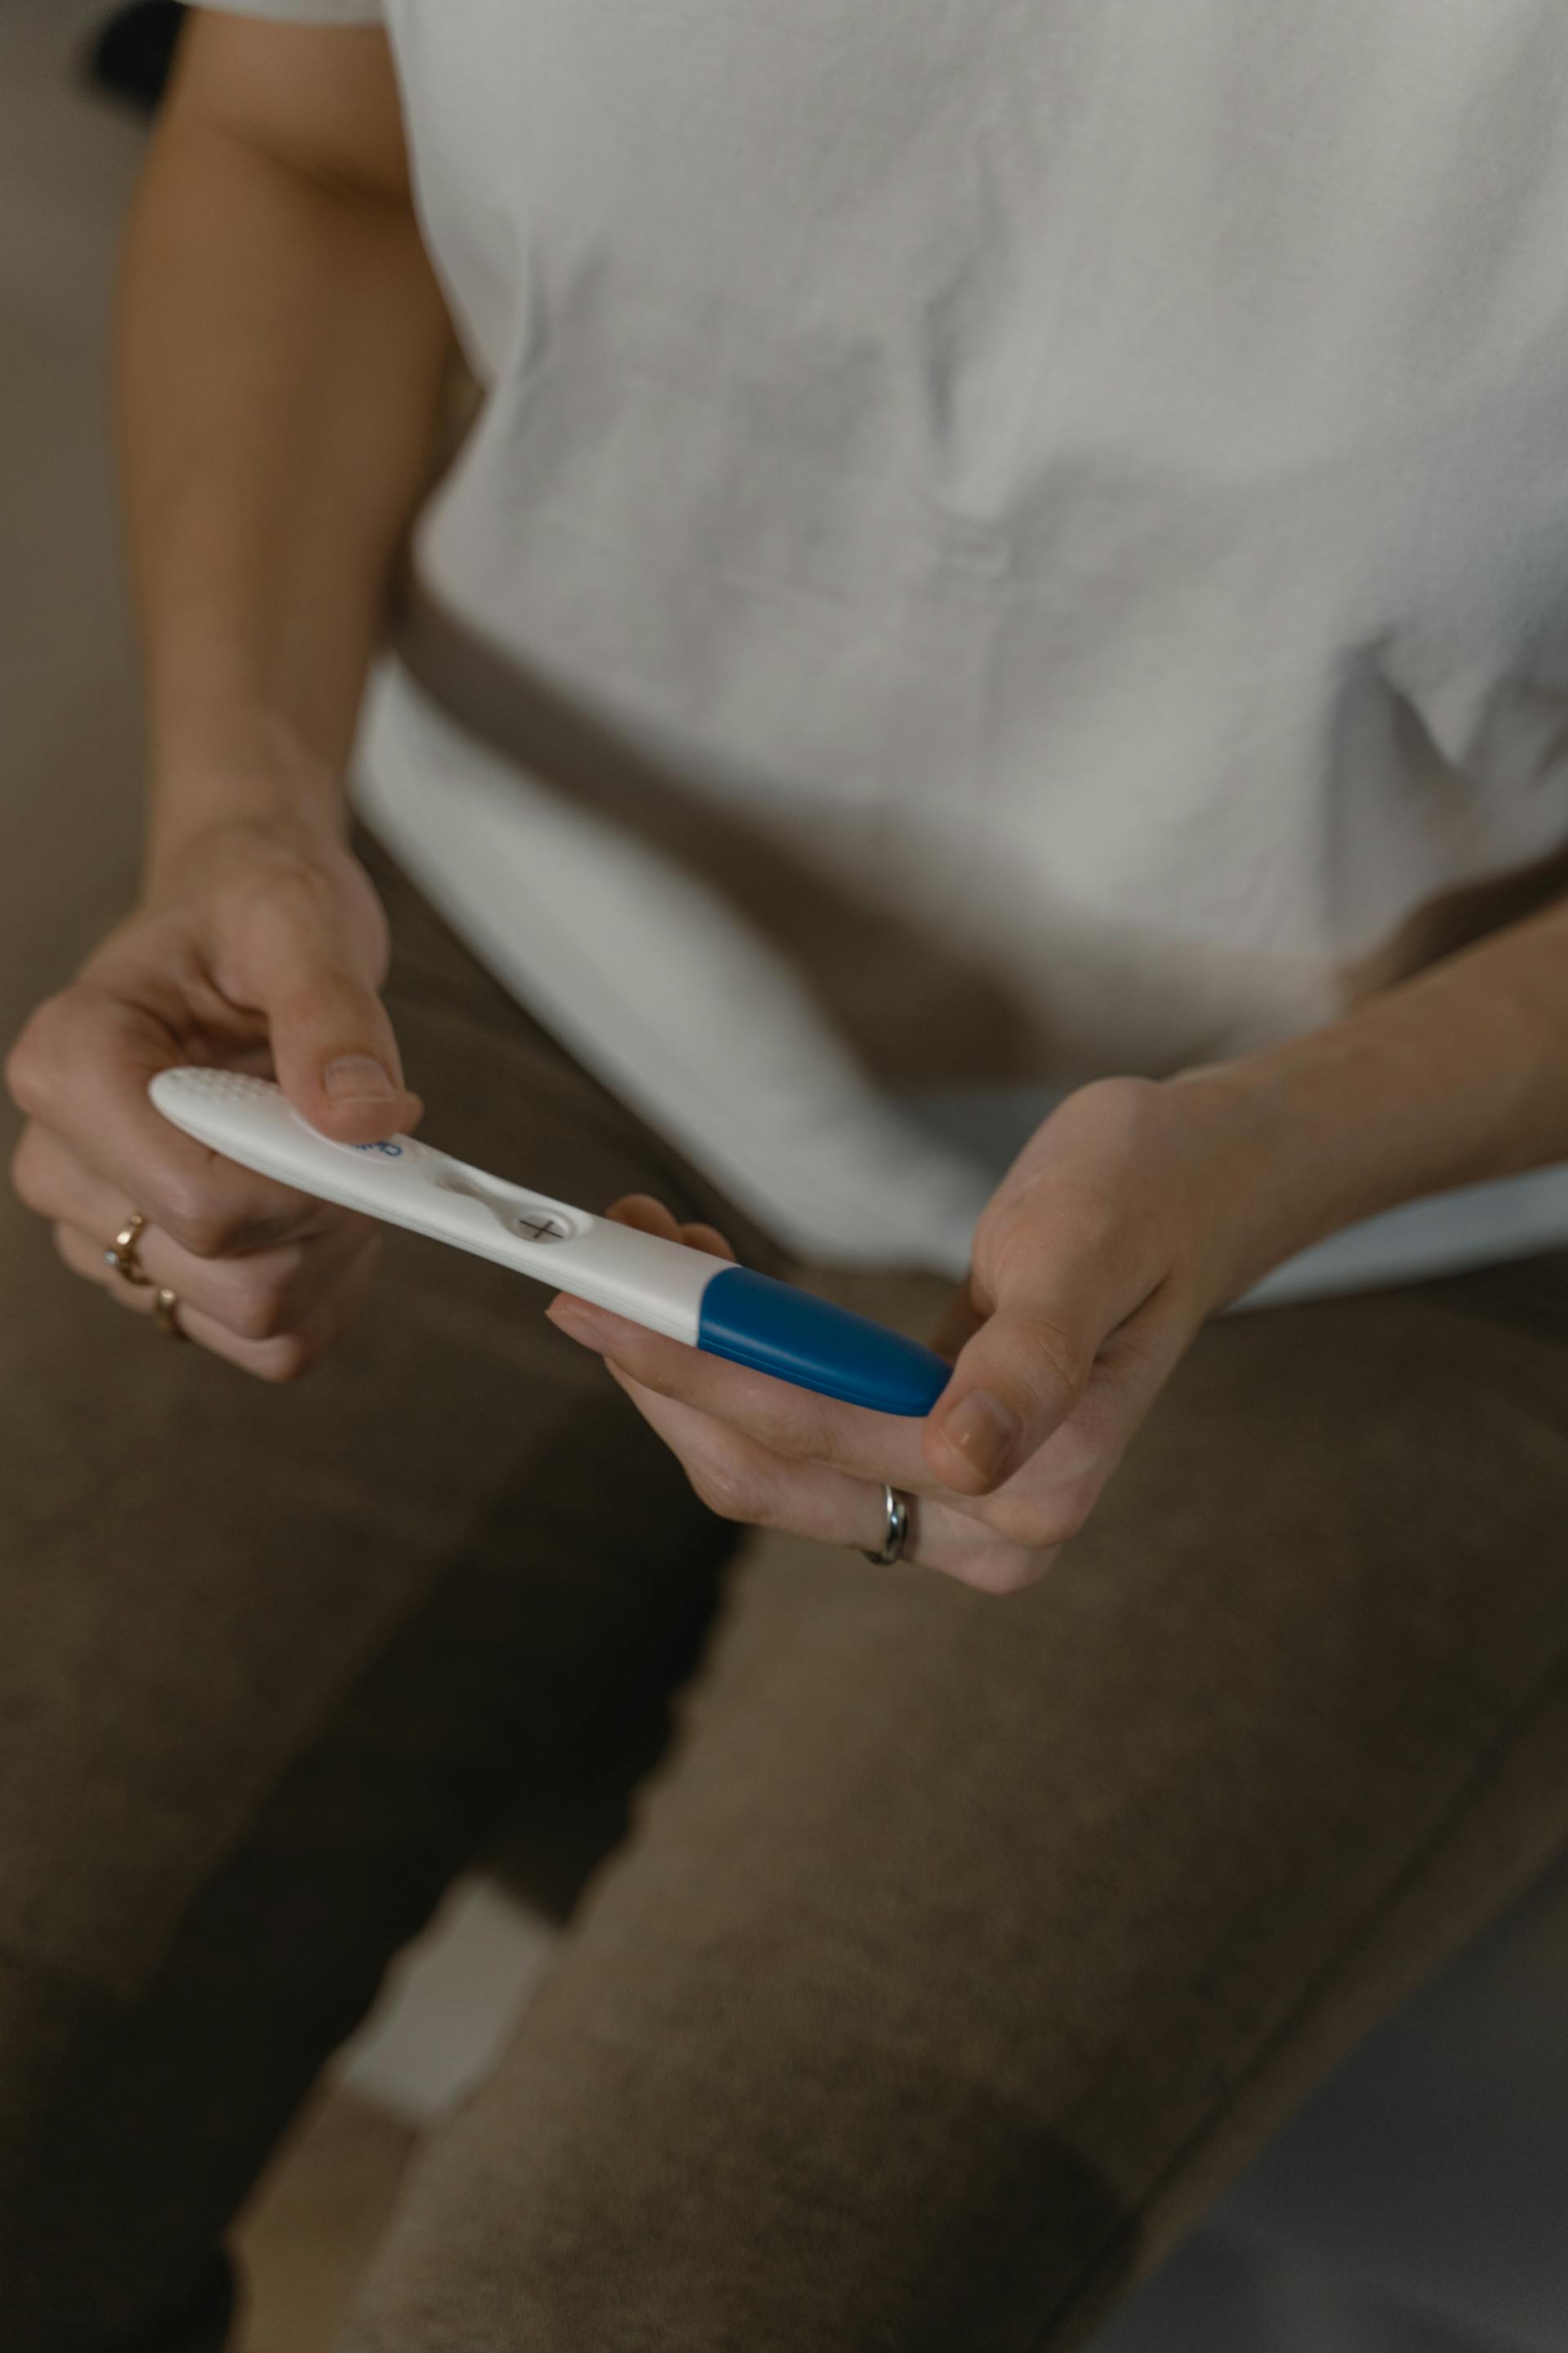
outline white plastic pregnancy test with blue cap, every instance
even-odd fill
[[[529,1193],[414,1136],[334,1144],[266,1078],[160,1071],[148,1094],[226,1160],[496,1259],[731,1365],[879,1414],[929,1414],[947,1386],[952,1367],[933,1348],[748,1266]]]

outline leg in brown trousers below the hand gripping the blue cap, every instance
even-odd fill
[[[741,1579],[346,2353],[1058,2353],[1568,1828],[1568,1261],[1211,1327],[1058,1572]]]

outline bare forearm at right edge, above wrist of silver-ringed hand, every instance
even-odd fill
[[[1568,1160],[1568,904],[1173,1085],[1234,1132],[1237,1287],[1406,1200]]]

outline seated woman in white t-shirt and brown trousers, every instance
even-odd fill
[[[1561,1842],[1566,129],[1544,0],[197,12],[146,880],[9,1064],[197,1346],[7,1240],[12,2341],[223,2344],[386,1960],[501,1824],[567,1904],[698,1654],[353,2353],[1081,2344]],[[367,1306],[186,1059],[924,1268],[950,1388]],[[708,1647],[748,1525],[849,1558]]]

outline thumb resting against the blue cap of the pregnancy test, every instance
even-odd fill
[[[1103,1264],[1051,1257],[1020,1271],[959,1351],[924,1431],[931,1471],[957,1494],[990,1494],[1074,1412],[1103,1341],[1131,1313]]]

